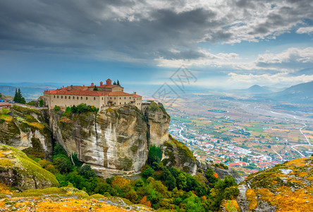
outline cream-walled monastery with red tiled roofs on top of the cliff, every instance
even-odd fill
[[[97,89],[94,89],[94,88]],[[125,93],[124,88],[112,85],[110,79],[106,83],[100,82],[99,86],[91,83],[90,86],[68,86],[56,90],[44,90],[44,102],[49,108],[58,105],[60,107],[72,107],[81,103],[94,105],[102,110],[104,107],[132,104],[141,110],[142,96],[134,93]]]

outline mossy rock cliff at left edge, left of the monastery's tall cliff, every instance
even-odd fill
[[[50,158],[52,137],[47,123],[47,109],[13,105],[8,114],[0,114],[0,143],[36,158]]]

